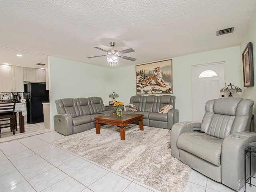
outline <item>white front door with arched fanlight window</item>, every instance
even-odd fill
[[[225,86],[225,63],[192,66],[193,121],[202,122],[208,100],[220,98]]]

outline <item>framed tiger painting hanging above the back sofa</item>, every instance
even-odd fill
[[[137,65],[136,94],[173,94],[172,59]]]

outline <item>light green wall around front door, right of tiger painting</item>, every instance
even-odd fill
[[[241,87],[240,46],[173,58],[173,90],[180,121],[192,120],[192,66],[226,63],[226,82]]]

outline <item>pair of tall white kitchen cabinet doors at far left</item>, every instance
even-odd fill
[[[0,92],[24,92],[23,67],[0,65]]]

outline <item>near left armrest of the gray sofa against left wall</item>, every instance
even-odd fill
[[[63,135],[73,134],[73,122],[70,114],[57,114],[54,116],[54,130]]]

